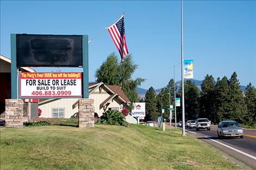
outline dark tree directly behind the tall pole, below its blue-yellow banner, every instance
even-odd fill
[[[181,97],[181,88],[178,96]],[[199,90],[196,84],[191,80],[184,81],[184,98],[185,98],[185,118],[187,120],[196,119],[199,113]],[[182,100],[182,99],[181,99]],[[182,104],[181,104],[182,107]],[[177,109],[178,117],[181,119],[181,107]]]

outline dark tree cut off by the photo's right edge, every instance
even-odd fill
[[[245,118],[248,125],[256,124],[256,90],[249,83],[245,89],[245,103],[247,105],[248,115]]]

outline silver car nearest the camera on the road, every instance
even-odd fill
[[[243,138],[242,127],[236,121],[222,121],[218,124],[218,138],[239,136]]]

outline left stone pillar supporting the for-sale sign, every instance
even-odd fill
[[[22,99],[5,99],[5,127],[23,128]]]

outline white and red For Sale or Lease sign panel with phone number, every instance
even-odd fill
[[[82,97],[82,73],[20,73],[20,97]]]

